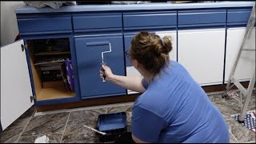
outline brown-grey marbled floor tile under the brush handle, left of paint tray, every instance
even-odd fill
[[[84,125],[96,128],[97,120],[98,118],[87,118],[67,122],[62,142],[84,142],[89,138],[96,138],[95,132]]]

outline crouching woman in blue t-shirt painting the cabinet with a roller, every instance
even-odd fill
[[[127,55],[143,78],[115,75],[102,66],[106,81],[142,93],[131,118],[134,142],[230,142],[222,114],[186,69],[169,60],[170,50],[169,38],[142,31]]]

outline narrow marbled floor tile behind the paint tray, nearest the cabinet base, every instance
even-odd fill
[[[86,119],[86,118],[98,118],[99,114],[106,114],[106,108],[93,109],[93,110],[80,110],[70,112],[70,121],[76,119]]]

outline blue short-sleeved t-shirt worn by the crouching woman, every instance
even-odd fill
[[[226,121],[202,87],[170,61],[134,102],[131,131],[144,142],[230,142]]]

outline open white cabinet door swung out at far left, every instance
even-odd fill
[[[2,130],[26,112],[34,102],[23,40],[1,47],[1,124]]]

